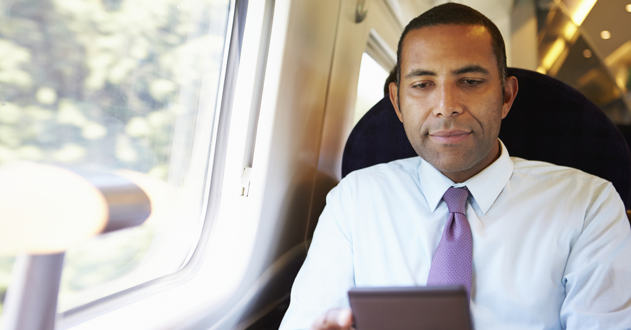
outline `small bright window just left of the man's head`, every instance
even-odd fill
[[[375,103],[384,97],[384,83],[389,72],[380,66],[367,52],[362,54],[357,83],[357,100],[353,114],[353,126]]]

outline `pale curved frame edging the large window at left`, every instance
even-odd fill
[[[186,264],[175,273],[121,290],[112,295],[98,298],[90,303],[57,313],[57,327],[69,329],[89,321],[99,315],[126,307],[134,302],[151,297],[157,293],[175,288],[190,281],[203,266],[207,246],[212,239],[212,232],[221,201],[221,185],[225,168],[225,145],[227,128],[230,124],[234,85],[239,71],[239,56],[242,47],[242,33],[245,26],[248,0],[230,0],[228,19],[221,59],[220,81],[217,89],[213,132],[208,154],[208,167],[204,177],[204,196],[200,214],[203,215],[203,227],[199,240],[192,247],[192,253]]]

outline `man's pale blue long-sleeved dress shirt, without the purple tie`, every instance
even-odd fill
[[[357,170],[326,199],[280,330],[348,307],[353,286],[424,286],[468,187],[475,329],[631,329],[631,230],[615,188],[569,167],[501,155],[454,184],[420,157]]]

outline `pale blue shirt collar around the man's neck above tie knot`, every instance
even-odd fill
[[[418,167],[421,192],[423,192],[425,201],[427,201],[432,212],[438,207],[447,189],[466,186],[471,192],[471,196],[475,198],[476,203],[480,206],[482,214],[487,214],[488,209],[491,208],[497,196],[500,195],[504,186],[509,182],[513,171],[513,162],[502,141],[500,141],[500,147],[502,148],[502,153],[500,153],[500,157],[495,162],[460,184],[454,183],[430,163],[421,159],[421,165]]]

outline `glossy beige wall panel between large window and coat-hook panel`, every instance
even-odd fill
[[[304,241],[339,3],[295,0],[291,4],[259,225],[261,242],[255,247],[269,249],[265,264]]]

